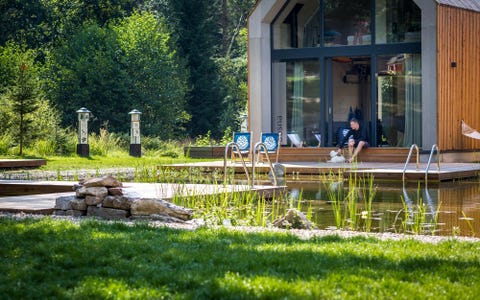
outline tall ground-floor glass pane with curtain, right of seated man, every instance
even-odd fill
[[[378,120],[380,146],[422,145],[422,66],[420,54],[380,56]]]

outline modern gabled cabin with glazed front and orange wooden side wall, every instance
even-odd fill
[[[480,149],[480,1],[259,0],[248,29],[254,139],[333,147],[356,117],[371,147]]]

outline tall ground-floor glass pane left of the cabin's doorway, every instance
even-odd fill
[[[320,123],[318,60],[273,64],[273,124],[276,132],[297,133],[306,144],[317,145]],[[286,141],[286,140],[284,140]]]

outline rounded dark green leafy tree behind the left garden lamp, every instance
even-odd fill
[[[93,131],[126,131],[131,109],[125,56],[109,28],[87,23],[54,50],[48,74],[48,98],[63,112],[63,126],[75,127],[76,111],[86,107]]]

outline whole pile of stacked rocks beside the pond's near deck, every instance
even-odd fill
[[[73,189],[75,195],[56,199],[56,215],[164,222],[185,222],[193,217],[190,209],[126,191],[123,184],[112,176],[87,179],[74,185]]]

